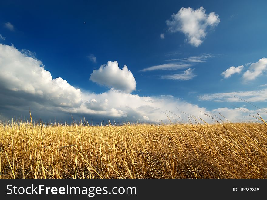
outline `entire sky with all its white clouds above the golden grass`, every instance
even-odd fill
[[[222,113],[232,121],[249,120],[248,112],[265,115],[266,7],[265,1],[3,1],[0,43],[2,58],[6,60],[0,59],[5,96],[0,107],[2,117],[27,115],[26,107],[35,111],[36,118],[53,119],[59,115],[64,119],[71,110],[78,118],[86,116],[96,121],[111,118],[151,123],[164,121],[166,114],[162,112],[177,111],[176,107],[188,108],[185,111],[194,116],[201,109],[209,114]],[[21,55],[13,55],[12,49]],[[66,105],[55,103],[60,98],[49,96],[47,88],[35,87],[38,83],[33,81],[29,84],[34,92],[21,87],[23,80],[25,85],[31,78],[38,82],[36,74],[30,73],[38,66],[28,68],[27,61],[16,56],[33,57],[53,79],[66,80],[73,87],[71,91],[55,86],[55,91],[63,92],[60,97],[65,98]],[[18,67],[24,70],[12,76],[20,84],[5,76],[12,73],[14,60],[21,62]],[[127,65],[127,69],[123,72],[110,64],[110,71],[108,65],[103,67],[106,72],[100,71],[100,66],[108,61],[117,61],[120,70]],[[166,70],[162,65],[169,67]],[[231,75],[224,77],[222,73],[232,66],[231,72],[236,73],[228,70]],[[110,75],[115,69],[119,74]],[[77,94],[75,100],[72,90]],[[127,97],[116,104],[112,98],[123,99],[121,95]],[[143,97],[156,103],[130,103],[135,102],[132,98]],[[35,98],[39,100],[32,100]],[[19,99],[25,101],[23,106]],[[96,104],[97,108],[92,107]]]

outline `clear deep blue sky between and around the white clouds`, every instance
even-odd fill
[[[208,31],[197,48],[185,42],[183,33],[167,32],[165,21],[181,7],[215,12],[220,23]],[[82,90],[107,90],[89,80],[90,74],[107,61],[124,64],[136,79],[140,96],[173,95],[214,109],[232,107],[227,102],[200,101],[207,93],[248,91],[267,84],[266,75],[248,83],[240,74],[223,79],[221,72],[231,66],[257,62],[267,56],[266,1],[0,1],[0,34],[4,44],[35,52],[52,77],[61,77]],[[11,22],[15,31],[4,28]],[[86,22],[84,24],[84,22]],[[160,34],[165,34],[165,39]],[[96,56],[96,63],[87,57]],[[171,54],[171,55],[170,55]],[[201,54],[212,54],[191,68],[191,80],[165,80],[175,71],[147,71],[143,68]],[[245,68],[247,69],[247,67]],[[241,106],[244,102],[233,103]],[[263,107],[264,103],[256,103]]]

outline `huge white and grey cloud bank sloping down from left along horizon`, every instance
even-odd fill
[[[212,116],[206,108],[169,95],[142,97],[114,88],[100,94],[81,91],[60,77],[53,79],[41,61],[23,52],[14,46],[0,44],[1,118],[28,116],[29,107],[32,116],[42,120],[71,119],[71,112],[73,117],[85,116],[96,123],[103,119],[120,120],[121,123],[137,120],[168,123],[167,115],[173,122],[188,122],[189,117],[191,120],[200,117],[209,122],[208,115]],[[106,67],[113,64],[118,67],[116,62],[109,62]],[[129,74],[130,71],[126,68],[126,72]],[[214,110],[215,114],[221,111]]]

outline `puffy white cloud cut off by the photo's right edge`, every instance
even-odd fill
[[[254,80],[267,70],[267,58],[259,59],[258,62],[252,63],[249,69],[243,74],[245,80]]]

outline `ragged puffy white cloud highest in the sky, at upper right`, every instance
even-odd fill
[[[208,15],[205,12],[203,7],[196,10],[190,7],[181,8],[177,14],[172,14],[171,19],[166,21],[168,30],[172,33],[181,31],[191,45],[198,47],[207,35],[207,28],[215,27],[220,22],[219,15],[215,12]]]

